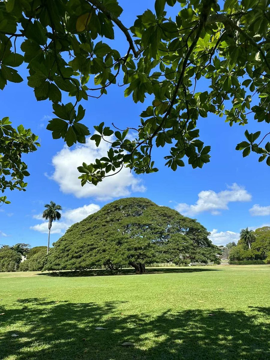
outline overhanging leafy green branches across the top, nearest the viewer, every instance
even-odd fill
[[[132,128],[135,139],[128,123],[122,130],[116,122],[94,126],[96,146],[105,139],[111,148],[78,168],[82,185],[96,185],[123,167],[155,172],[152,148],[165,144],[171,144],[165,165],[172,170],[185,163],[202,167],[210,146],[199,139],[197,123],[209,115],[223,116],[230,126],[246,125],[250,113],[270,123],[268,0],[153,0],[154,11],[145,9],[134,24],[120,20],[121,3],[0,1],[0,89],[23,81],[16,68],[26,63],[36,99],[52,103],[55,117],[47,129],[54,139],[84,143],[92,127],[82,123],[85,101],[107,94],[109,86],[122,85],[125,96],[146,103]],[[114,48],[115,27],[126,41],[124,53]],[[270,165],[269,134],[258,124],[236,149]]]

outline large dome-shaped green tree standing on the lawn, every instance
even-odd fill
[[[54,243],[47,269],[118,269],[154,262],[215,261],[217,247],[194,219],[146,198],[124,198],[72,225]]]

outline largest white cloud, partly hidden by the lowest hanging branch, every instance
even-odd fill
[[[73,149],[65,146],[52,159],[54,172],[50,178],[59,184],[63,193],[73,194],[77,198],[94,197],[98,200],[108,200],[129,196],[131,192],[144,192],[146,189],[139,177],[135,177],[127,168],[123,168],[119,174],[105,178],[97,186],[81,186],[77,167],[83,162],[89,164],[95,162],[96,158],[107,156],[108,150],[108,143],[102,141],[96,148],[95,142],[90,138],[86,139],[86,144],[77,144]]]

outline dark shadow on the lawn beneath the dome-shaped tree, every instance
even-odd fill
[[[214,266],[213,266],[214,267]],[[220,271],[224,269],[204,269],[203,267],[149,267],[147,268],[146,274],[136,274],[133,268],[130,269],[121,269],[116,271],[109,271],[105,269],[94,269],[94,270],[85,270],[85,271],[54,271],[50,273],[38,273],[37,275],[46,275],[46,276],[65,276],[65,277],[75,277],[75,276],[108,276],[108,275],[147,275],[147,274],[177,274],[177,273],[197,273],[201,271]]]

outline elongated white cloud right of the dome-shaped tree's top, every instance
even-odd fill
[[[201,191],[194,205],[180,203],[175,208],[183,215],[193,216],[203,211],[219,215],[220,210],[228,210],[229,202],[251,201],[251,194],[243,186],[234,183],[227,190],[216,193],[213,190]]]

